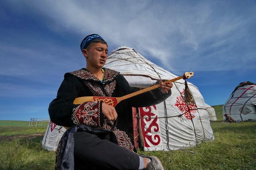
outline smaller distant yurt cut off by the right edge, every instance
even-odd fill
[[[256,121],[256,84],[240,83],[223,105],[222,113],[230,115],[234,120]]]

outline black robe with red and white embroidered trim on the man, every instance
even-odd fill
[[[80,105],[73,104],[74,99],[83,96],[109,96],[122,97],[136,92],[128,82],[114,70],[103,68],[103,82],[98,80],[85,68],[66,73],[58,90],[57,98],[49,106],[51,121],[57,125],[83,129],[90,133],[109,133],[109,140],[130,151],[136,152],[133,147],[132,107],[146,107],[158,104],[171,94],[162,94],[159,88],[134,96],[120,102],[116,107],[117,121],[108,121],[102,114],[102,101],[84,102]],[[81,127],[79,127],[81,125]],[[62,143],[68,144],[68,130],[62,137]],[[73,130],[75,133],[76,130]],[[132,140],[131,140],[132,139]],[[64,141],[66,140],[66,141]],[[62,149],[65,147],[62,146]],[[63,155],[62,155],[63,156]]]

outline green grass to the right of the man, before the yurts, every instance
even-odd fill
[[[256,169],[256,123],[211,124],[214,141],[185,150],[141,153],[158,156],[167,170]]]

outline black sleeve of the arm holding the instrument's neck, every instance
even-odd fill
[[[120,74],[120,79],[123,83],[123,90],[126,91],[126,94],[131,94],[139,90],[139,88],[130,87],[127,80]],[[156,83],[158,84],[158,82]],[[163,94],[160,92],[160,88],[156,88],[149,92],[142,93],[140,95],[134,96],[132,98],[127,99],[128,104],[132,107],[146,107],[152,106],[154,104],[159,104],[166,100],[171,95],[171,90],[168,94]]]

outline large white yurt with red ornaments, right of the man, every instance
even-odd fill
[[[138,88],[146,88],[156,80],[178,77],[129,47],[112,51],[105,67],[119,71],[130,86]],[[198,88],[188,82],[195,104],[186,105],[183,101],[184,87],[184,80],[178,80],[174,82],[172,95],[166,101],[138,108],[144,150],[176,150],[214,139],[204,98]]]

